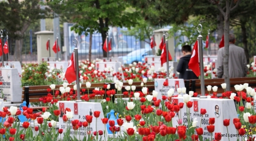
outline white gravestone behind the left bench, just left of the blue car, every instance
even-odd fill
[[[108,72],[105,73],[107,76],[106,80],[108,81],[115,81],[118,80],[117,76],[113,77],[113,74],[116,72],[120,72],[122,74],[122,80],[124,80],[124,74],[122,73],[122,70],[119,71],[118,68],[121,68],[120,62],[96,62],[95,63],[96,70],[100,70],[101,72],[104,72],[105,68],[108,70]],[[109,69],[113,69],[113,72],[109,71]]]

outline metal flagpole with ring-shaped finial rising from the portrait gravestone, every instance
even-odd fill
[[[199,29],[198,26],[200,26],[201,29]],[[205,95],[205,92],[204,92],[204,61],[203,61],[203,50],[202,50],[203,36],[201,35],[202,25],[199,24],[198,26],[197,26],[197,31],[199,32],[199,36],[197,38],[198,38],[198,47],[199,47],[199,60],[200,60],[201,96],[204,96]]]

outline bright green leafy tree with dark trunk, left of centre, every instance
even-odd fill
[[[59,9],[64,10],[60,10],[58,14],[65,13],[65,9],[72,9],[74,11],[73,15],[77,13],[76,16],[72,17],[72,21],[76,23],[72,30],[76,33],[82,34],[85,32],[85,35],[95,31],[101,33],[103,57],[107,57],[103,45],[109,26],[130,28],[137,24],[137,18],[139,17],[139,12],[131,8],[125,0],[53,0],[53,2],[59,4],[59,7],[61,7]],[[53,10],[55,11],[55,9]]]

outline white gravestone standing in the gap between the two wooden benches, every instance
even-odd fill
[[[163,86],[164,82],[168,81],[168,86]],[[185,87],[184,80],[183,79],[155,79],[155,90],[158,92],[157,99],[162,99],[162,96],[168,96],[167,92],[169,89],[174,89],[174,96],[178,95],[177,89]],[[182,94],[182,93],[180,93]]]

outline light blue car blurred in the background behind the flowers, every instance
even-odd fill
[[[138,63],[139,61],[144,61],[145,60],[144,56],[153,56],[152,49],[150,48],[137,49],[135,51],[130,52],[126,56],[119,56],[119,58],[122,58],[125,64],[130,64],[133,62]]]

